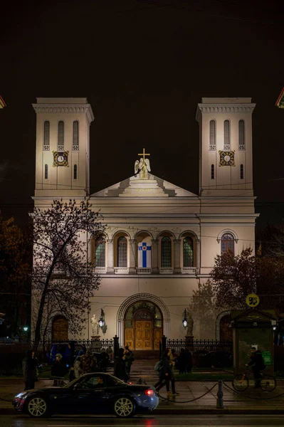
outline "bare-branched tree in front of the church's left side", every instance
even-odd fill
[[[32,294],[33,305],[38,307],[34,334],[37,349],[54,312],[68,319],[71,333],[83,330],[90,297],[100,284],[88,259],[88,236],[98,237],[104,226],[100,222],[102,216],[92,211],[88,200],[80,204],[75,200],[68,203],[54,200],[50,208],[36,208],[31,216]]]

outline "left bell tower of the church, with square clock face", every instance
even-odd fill
[[[36,98],[36,197],[90,194],[90,123],[87,98]]]

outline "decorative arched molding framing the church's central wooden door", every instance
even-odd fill
[[[120,305],[120,308],[117,311],[117,328],[116,328],[117,332],[116,333],[117,333],[117,336],[120,337],[120,347],[122,347],[125,342],[125,328],[124,328],[125,313],[127,312],[127,309],[130,307],[130,305],[133,305],[135,304],[135,302],[139,302],[141,300],[147,300],[159,307],[159,310],[161,310],[163,315],[163,333],[166,337],[169,337],[170,315],[169,315],[169,309],[167,305],[165,305],[164,302],[159,297],[156,297],[156,295],[152,295],[148,293],[139,293],[136,295],[132,295],[131,297],[128,297],[124,302],[122,302],[122,305]]]

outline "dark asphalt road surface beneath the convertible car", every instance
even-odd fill
[[[278,427],[284,426],[283,415],[160,415],[120,419],[112,416],[53,416],[33,419],[28,416],[0,416],[1,427]]]

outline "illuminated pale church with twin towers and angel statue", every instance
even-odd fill
[[[35,206],[84,199],[85,190],[90,193],[92,107],[86,98],[37,98],[33,107]],[[254,248],[254,107],[248,97],[205,97],[197,105],[199,194],[154,176],[151,150],[144,144],[133,153],[139,153],[133,176],[90,195],[107,228],[88,247],[102,280],[80,338],[91,337],[90,319],[100,318],[101,308],[107,325],[101,337],[117,334],[120,345],[151,350],[159,349],[162,335],[184,338],[184,309],[193,290],[209,279],[216,255],[227,248],[235,254]],[[220,310],[205,329],[193,319],[194,338],[226,339],[222,325],[228,312]],[[53,319],[53,332],[53,339],[72,338],[61,315]]]

